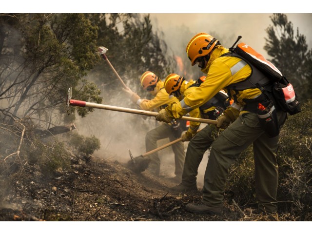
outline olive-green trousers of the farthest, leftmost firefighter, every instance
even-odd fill
[[[157,140],[168,138],[168,137],[170,141],[173,141],[176,139],[176,137],[174,136],[174,130],[172,129],[171,125],[167,123],[163,123],[159,125],[158,127],[156,127],[155,129],[149,131],[145,136],[146,152],[154,150],[158,147]],[[185,158],[184,144],[182,141],[179,141],[176,144],[173,144],[171,147],[175,153],[175,166],[176,166],[175,174],[176,176],[181,178],[182,172],[183,172],[184,158]],[[159,159],[157,152],[148,157],[151,159],[148,170],[151,173],[158,176],[159,171],[160,171],[160,159]]]

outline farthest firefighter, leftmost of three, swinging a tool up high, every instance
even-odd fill
[[[155,98],[148,100],[140,98],[135,92],[130,89],[125,89],[127,94],[129,94],[131,100],[137,104],[141,110],[153,111],[154,109],[162,109],[169,104],[178,102],[176,97],[169,97],[166,90],[164,89],[164,82],[161,81],[153,72],[146,71],[142,74],[140,78],[141,86],[144,90],[149,92]],[[157,148],[157,140],[168,138],[170,141],[175,140],[181,136],[180,127],[173,120],[170,123],[161,124],[155,129],[149,131],[145,136],[145,147],[146,152],[154,150]],[[185,158],[184,144],[183,142],[178,142],[172,145],[172,150],[175,154],[175,177],[172,178],[174,182],[179,183],[182,177],[183,164]],[[160,159],[156,153],[151,154],[146,157],[150,160],[148,171],[159,176],[160,172]]]

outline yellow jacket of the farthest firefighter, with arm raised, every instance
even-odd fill
[[[156,84],[156,95],[155,98],[148,100],[148,99],[140,99],[138,103],[140,109],[145,111],[153,111],[158,108],[158,111],[163,105],[170,105],[174,102],[178,103],[179,100],[176,97],[169,97],[169,94],[164,89],[164,82],[159,80]]]

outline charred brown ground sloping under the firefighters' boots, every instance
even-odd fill
[[[222,215],[187,212],[201,193],[174,194],[168,178],[129,170],[117,161],[92,157],[72,169],[44,176],[36,167],[0,177],[0,221],[293,221],[289,214],[254,215],[225,198]]]

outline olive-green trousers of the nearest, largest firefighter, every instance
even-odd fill
[[[277,112],[280,126],[286,114]],[[243,113],[211,145],[211,153],[204,176],[202,202],[223,207],[223,190],[229,168],[249,145],[254,146],[255,193],[258,210],[276,213],[278,166],[276,153],[279,136],[268,137],[254,113]]]

